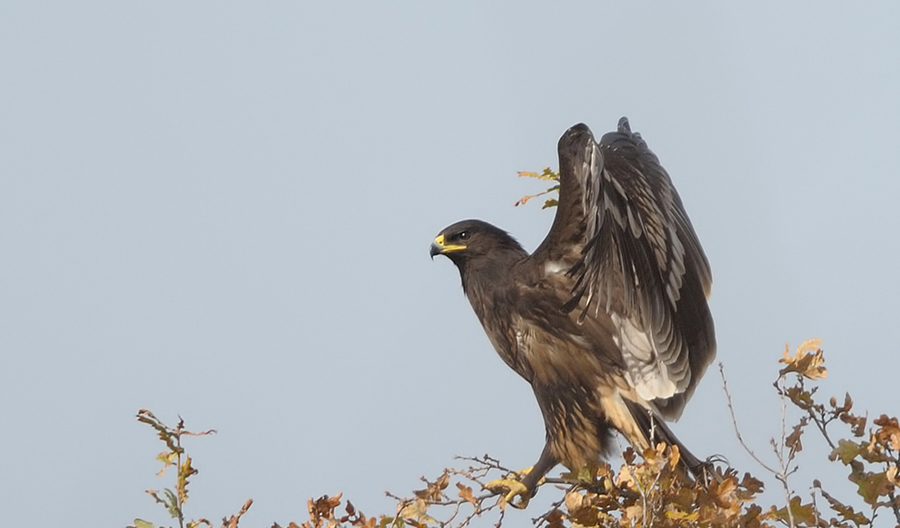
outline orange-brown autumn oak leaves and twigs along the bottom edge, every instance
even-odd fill
[[[542,493],[557,494],[549,510],[537,512],[532,519],[537,528],[563,527],[869,527],[900,526],[900,425],[886,414],[869,424],[866,413],[853,411],[849,395],[817,399],[817,387],[810,386],[827,375],[818,340],[800,345],[795,354],[786,349],[784,365],[774,386],[791,413],[797,418],[785,425],[781,439],[771,441],[777,464],[767,464],[748,449],[759,463],[754,470],[764,478],[739,472],[721,462],[710,461],[706,478],[689,481],[678,471],[678,449],[663,444],[643,453],[628,448],[618,468],[601,464],[593,472],[564,473],[541,484]],[[721,371],[720,365],[720,371]],[[724,374],[727,404],[731,408]],[[732,413],[733,417],[733,413]],[[174,489],[147,493],[160,503],[179,528],[213,526],[206,519],[186,520],[189,478],[197,474],[192,459],[185,453],[182,438],[205,436],[214,431],[192,433],[179,420],[170,428],[149,411],[137,418],[151,426],[166,445],[157,459],[164,472],[175,469]],[[786,415],[785,418],[788,418]],[[788,423],[788,422],[786,422]],[[846,466],[848,479],[856,486],[856,495],[837,498],[826,491],[818,479],[811,484],[814,493],[802,498],[792,487],[791,475],[797,457],[803,451],[806,434],[815,431],[831,448],[828,459]],[[741,444],[743,437],[735,422]],[[814,433],[814,434],[815,434]],[[307,519],[300,524],[274,524],[272,528],[463,528],[489,523],[503,526],[507,504],[501,495],[488,491],[484,484],[498,476],[514,472],[487,455],[460,457],[462,467],[445,469],[433,480],[423,478],[424,487],[409,495],[388,493],[397,501],[396,511],[367,516],[341,494],[324,495],[307,503]],[[814,462],[818,463],[818,462]],[[769,484],[784,493],[781,505],[763,506],[759,496]],[[556,489],[548,489],[556,488]],[[238,528],[241,516],[250,508],[248,500],[235,515],[222,519],[223,528]],[[876,524],[877,523],[877,524]],[[129,528],[157,528],[137,519]]]

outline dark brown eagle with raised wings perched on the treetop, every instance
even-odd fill
[[[686,474],[705,464],[664,422],[678,419],[716,354],[712,273],[681,198],[625,117],[599,142],[571,127],[558,152],[556,216],[533,253],[480,220],[431,245],[432,258],[458,268],[491,344],[543,415],[537,463],[492,483],[519,507],[556,465],[594,467],[615,431],[638,450],[677,445]]]

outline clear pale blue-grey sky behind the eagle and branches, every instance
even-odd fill
[[[622,115],[709,256],[754,447],[809,337],[824,394],[896,415],[898,27],[887,2],[2,3],[3,524],[164,521],[139,408],[218,429],[189,513],[252,497],[247,526],[338,491],[388,512],[455,454],[530,465],[530,389],[428,246],[477,217],[534,248],[552,212],[513,207],[542,187],[516,171]],[[715,368],[674,429],[762,474]]]

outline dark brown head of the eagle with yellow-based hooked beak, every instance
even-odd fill
[[[448,226],[431,244],[431,258],[444,255],[457,266],[507,251],[525,253],[506,231],[481,220],[463,220]]]

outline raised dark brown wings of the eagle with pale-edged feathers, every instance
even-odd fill
[[[614,328],[619,350],[602,353],[621,354],[638,396],[677,417],[715,356],[712,275],[681,199],[625,118],[599,144],[572,127],[559,157],[559,209],[533,259],[585,335]]]

